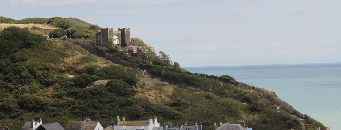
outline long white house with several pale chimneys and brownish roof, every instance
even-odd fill
[[[104,130],[152,130],[153,127],[160,126],[157,117],[155,117],[154,120],[149,118],[149,120],[143,121],[126,121],[123,117],[121,121],[119,116],[117,116],[116,121],[112,121],[110,125],[111,126],[106,127]]]

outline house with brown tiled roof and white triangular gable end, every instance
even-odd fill
[[[65,130],[103,130],[102,125],[98,121],[91,121],[87,117],[85,121],[69,121]]]

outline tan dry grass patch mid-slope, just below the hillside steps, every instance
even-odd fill
[[[168,97],[173,95],[174,88],[169,85],[158,83],[150,78],[139,76],[139,82],[135,84],[136,98],[148,99],[153,103],[160,103],[161,101],[169,100]]]

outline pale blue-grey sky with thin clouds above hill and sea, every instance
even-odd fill
[[[132,38],[181,67],[328,63],[341,56],[338,0],[0,0],[0,16],[131,28]]]

